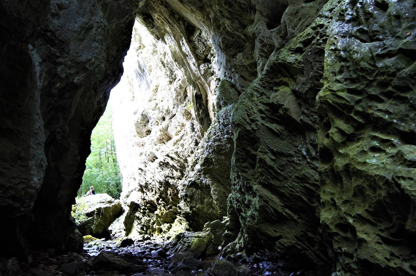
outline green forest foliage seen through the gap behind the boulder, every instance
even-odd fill
[[[92,131],[91,154],[85,163],[82,185],[78,190],[79,197],[85,195],[90,186],[94,186],[96,193],[107,193],[116,199],[120,198],[120,168],[116,156],[112,123],[112,111],[107,106]]]

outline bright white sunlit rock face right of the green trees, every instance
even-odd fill
[[[158,8],[162,9],[159,20],[166,20],[168,10]],[[188,165],[201,156],[196,150],[201,137],[210,132],[208,126],[215,113],[211,87],[218,81],[208,63],[201,66],[201,59],[193,57],[191,44],[177,44],[185,43],[184,22],[172,23],[166,34],[150,32],[145,23],[137,20],[134,25],[124,62],[126,74],[112,92],[123,179],[121,200],[127,210],[124,226],[131,237],[186,229],[188,223],[179,215],[185,208],[180,202],[184,198],[180,187],[185,179],[189,183],[184,185],[193,185]],[[215,59],[210,43],[203,42],[198,49],[204,58]],[[229,179],[229,169],[224,177]],[[225,195],[210,192],[208,185],[205,189],[200,208],[216,208],[216,212],[207,212],[208,220],[222,219],[229,188]],[[214,202],[217,198],[218,203]],[[201,219],[201,229],[206,221]]]

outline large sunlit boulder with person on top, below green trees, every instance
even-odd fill
[[[123,212],[119,200],[107,194],[80,197],[72,205],[72,216],[83,235],[108,236],[108,227]]]

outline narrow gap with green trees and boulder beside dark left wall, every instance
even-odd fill
[[[119,200],[121,174],[114,140],[113,97],[91,134],[91,153],[85,162],[82,184],[72,206],[84,243],[120,236],[123,231]]]

